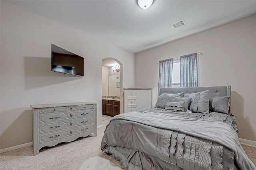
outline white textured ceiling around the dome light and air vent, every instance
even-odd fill
[[[146,10],[136,0],[7,1],[133,53],[256,14],[256,0],[154,0]]]

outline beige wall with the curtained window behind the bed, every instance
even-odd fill
[[[158,87],[157,61],[202,51],[199,86],[231,85],[238,137],[256,141],[256,15],[136,54],[136,87]],[[149,67],[150,66],[150,67]],[[150,77],[150,78],[145,78]]]

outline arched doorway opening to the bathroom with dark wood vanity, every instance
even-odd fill
[[[115,69],[113,70],[112,67]],[[120,61],[114,58],[102,59],[102,99],[106,96],[110,98],[119,98],[119,113],[123,113],[123,65]],[[119,82],[118,82],[119,79]],[[114,99],[116,100],[116,99]],[[106,100],[102,100],[106,101]],[[110,104],[107,104],[108,106]],[[102,112],[104,111],[104,104],[102,103]],[[114,106],[113,109],[117,107]]]

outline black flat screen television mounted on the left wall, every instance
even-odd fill
[[[52,44],[52,71],[84,76],[84,57]]]

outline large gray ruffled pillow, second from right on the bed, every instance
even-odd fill
[[[184,97],[192,98],[190,111],[198,113],[209,113],[210,90],[185,94]]]

